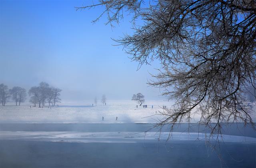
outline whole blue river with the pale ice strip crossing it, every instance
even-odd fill
[[[168,132],[157,140],[152,124],[0,124],[0,167],[12,168],[254,168],[256,137],[230,126],[220,156],[205,134]],[[175,131],[186,130],[182,124]],[[195,125],[196,127],[196,125]],[[243,128],[238,124],[238,128]],[[166,127],[165,130],[168,130]],[[239,133],[240,134],[240,133]],[[196,140],[197,138],[201,140]],[[217,150],[218,152],[218,150]]]

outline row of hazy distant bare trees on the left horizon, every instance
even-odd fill
[[[34,86],[28,91],[30,96],[30,102],[36,106],[39,104],[39,107],[48,103],[49,106],[55,106],[57,102],[60,102],[60,92],[61,89],[51,87],[46,82],[41,82],[39,86]],[[5,84],[0,84],[0,103],[2,106],[5,106],[9,102],[10,98],[16,102],[16,106],[20,106],[21,103],[25,102],[27,97],[26,89],[19,86],[14,86],[12,89],[8,89],[8,86]]]

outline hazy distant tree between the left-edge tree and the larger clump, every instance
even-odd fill
[[[14,86],[12,89],[10,89],[10,94],[12,95],[12,100],[16,102],[16,106],[20,106],[20,103],[25,102],[26,100],[26,89]]]

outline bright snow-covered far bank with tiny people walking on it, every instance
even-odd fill
[[[161,118],[155,115],[162,110],[160,107],[171,106],[166,101],[147,101],[148,108],[136,108],[136,103],[131,100],[110,100],[106,106],[92,106],[88,103],[73,105],[74,103],[66,102],[51,108],[30,108],[30,104],[10,106],[11,104],[0,106],[0,123],[155,123]]]

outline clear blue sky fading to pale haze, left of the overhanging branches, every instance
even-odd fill
[[[142,92],[162,99],[148,87],[152,66],[136,71],[122,46],[111,38],[131,34],[129,17],[105,25],[106,16],[92,20],[103,8],[76,11],[86,0],[0,0],[0,83],[29,89],[45,81],[63,90],[62,99],[130,99]]]

